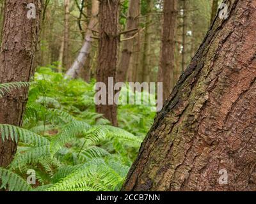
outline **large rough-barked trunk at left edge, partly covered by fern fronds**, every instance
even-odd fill
[[[33,3],[36,19],[27,18],[28,9],[24,3]],[[38,40],[40,0],[6,0],[4,10],[3,42],[0,53],[0,83],[28,82],[34,73],[33,59]],[[0,98],[0,124],[21,126],[28,89],[17,89]],[[17,149],[11,139],[0,139],[0,166],[8,166]]]

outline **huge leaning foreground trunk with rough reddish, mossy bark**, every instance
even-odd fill
[[[256,190],[256,1],[228,2],[228,18],[214,20],[123,190]]]

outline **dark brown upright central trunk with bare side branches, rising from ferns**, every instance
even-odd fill
[[[119,0],[100,1],[100,33],[99,33],[99,59],[96,70],[97,82],[106,84],[108,105],[97,105],[96,110],[102,113],[106,119],[111,121],[113,126],[117,126],[117,107],[115,103],[109,104],[109,83],[108,78],[113,77],[113,83],[116,81],[116,56],[119,43],[118,34],[118,13]]]

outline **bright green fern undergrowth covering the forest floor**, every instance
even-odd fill
[[[26,84],[24,84],[26,85]],[[6,85],[4,91],[23,85]],[[27,86],[27,85],[26,85]],[[19,141],[7,169],[8,191],[118,191],[147,133],[152,105],[119,106],[120,128],[95,113],[94,82],[68,80],[51,68],[35,73],[22,128],[0,124],[1,140]],[[3,86],[2,86],[3,87]],[[124,89],[125,91],[125,89]],[[28,185],[28,170],[36,184]]]

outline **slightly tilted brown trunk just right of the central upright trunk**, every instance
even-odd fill
[[[129,11],[126,24],[126,30],[138,29],[138,17],[140,15],[140,0],[131,0],[129,2]],[[136,34],[136,31],[124,34],[124,38],[131,38]],[[132,48],[134,45],[134,38],[124,41],[120,63],[118,65],[117,81],[125,82],[127,71],[131,61]]]

